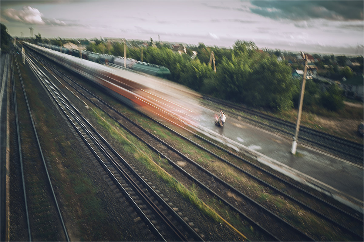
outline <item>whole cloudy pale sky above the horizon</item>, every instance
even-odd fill
[[[364,1],[0,1],[12,36],[118,37],[233,47],[363,55]],[[23,33],[23,34],[21,34]]]

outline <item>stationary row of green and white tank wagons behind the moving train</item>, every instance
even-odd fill
[[[66,47],[61,48],[59,47],[59,45],[44,44],[39,42],[37,43],[37,45],[46,47],[48,49],[53,49],[55,51],[60,51],[68,55],[80,57],[80,51],[78,49],[71,49]],[[90,60],[92,62],[106,65],[115,65],[117,67],[124,67],[124,57],[121,56],[115,57],[113,55],[99,54],[86,50],[81,51],[81,56],[82,59]],[[149,75],[159,76],[162,78],[167,78],[171,74],[169,69],[164,66],[158,66],[146,62],[139,62],[131,58],[126,58],[126,67],[135,71],[145,72]]]

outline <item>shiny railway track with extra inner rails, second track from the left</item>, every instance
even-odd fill
[[[80,141],[86,144],[114,185],[153,234],[153,237],[151,235],[146,235],[146,237],[158,241],[202,241],[203,235],[201,237],[196,229],[191,227],[188,219],[182,218],[178,214],[178,209],[171,207],[171,204],[166,201],[167,199],[162,198],[163,194],[153,188],[150,182],[139,175],[138,171],[112,148],[62,94],[57,85],[53,84],[39,69],[36,72],[42,79],[51,99],[67,118]]]

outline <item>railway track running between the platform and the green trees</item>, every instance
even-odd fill
[[[234,103],[225,102],[204,96],[208,102],[204,102],[207,107],[220,106],[230,117],[244,120],[254,126],[261,127],[265,130],[277,132],[281,135],[292,138],[296,130],[296,124],[282,119],[275,118],[261,112],[238,106]],[[301,143],[319,148],[325,152],[339,156],[345,160],[363,166],[364,147],[363,144],[355,143],[335,135],[327,134],[312,128],[300,126],[298,140]]]

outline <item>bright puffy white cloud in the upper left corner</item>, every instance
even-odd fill
[[[45,24],[38,9],[24,6],[22,10],[8,8],[4,11],[5,16],[12,20],[28,24]]]

